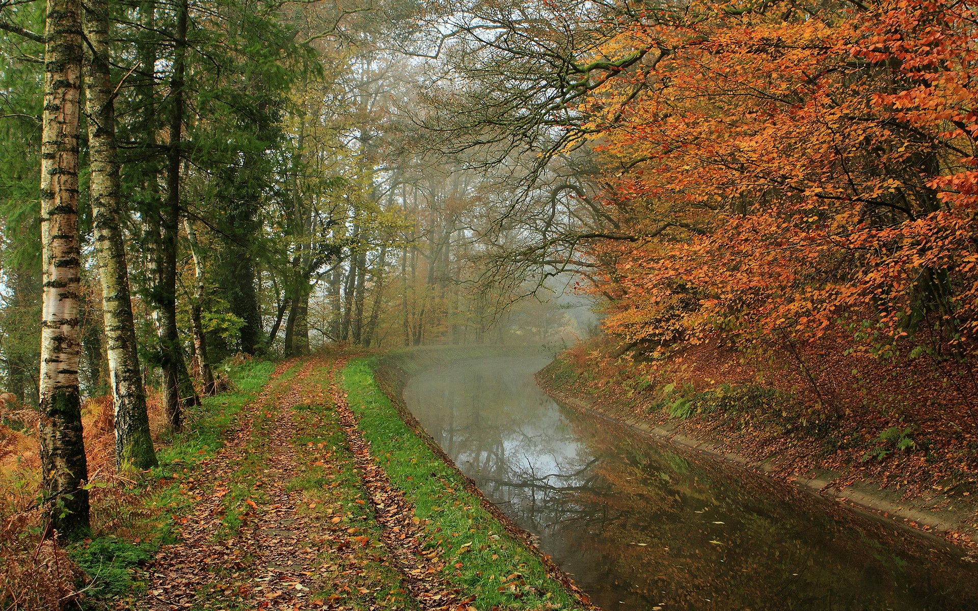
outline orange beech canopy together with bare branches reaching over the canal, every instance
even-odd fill
[[[973,394],[974,3],[445,4],[428,126],[539,160],[505,273],[581,273],[626,348],[927,356]],[[567,159],[599,170],[555,217]]]

